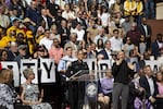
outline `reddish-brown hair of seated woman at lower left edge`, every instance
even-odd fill
[[[0,70],[0,83],[9,84],[13,80],[13,71],[10,69]]]

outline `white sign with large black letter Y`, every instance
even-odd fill
[[[52,59],[41,59],[41,83],[55,82],[55,68]]]

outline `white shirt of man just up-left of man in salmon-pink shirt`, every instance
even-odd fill
[[[53,44],[53,40],[47,38],[47,37],[43,37],[42,39],[40,39],[39,41],[39,45],[45,45],[46,48],[48,49],[48,51],[50,50],[51,46]]]

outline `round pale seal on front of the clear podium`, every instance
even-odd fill
[[[98,93],[97,84],[89,83],[86,86],[86,94],[88,97],[96,97]]]

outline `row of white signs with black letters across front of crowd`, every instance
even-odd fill
[[[103,70],[111,69],[112,66],[112,61],[110,60],[99,60],[97,62],[97,59],[85,59],[84,61],[87,62],[89,70],[95,73],[97,78],[103,77]],[[129,61],[133,63],[137,62],[137,60],[135,59],[130,59]],[[146,65],[149,64],[153,71],[155,69],[159,70],[159,66],[163,64],[162,59],[152,61],[146,60],[145,62]],[[23,75],[23,71],[27,68],[33,69],[35,73],[35,80],[33,81],[34,83],[38,84],[38,73],[41,73],[39,77],[41,83],[55,82],[55,66],[53,60],[51,59],[40,59],[40,62],[38,62],[37,59],[22,59],[20,69],[17,62],[14,61],[2,61],[1,64],[2,68],[13,70],[13,80],[15,87],[20,86],[20,83],[22,84],[26,81],[26,78]]]

